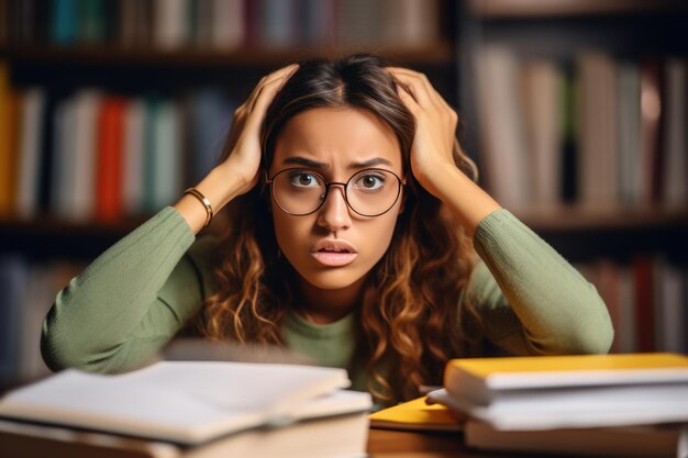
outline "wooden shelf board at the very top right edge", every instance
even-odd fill
[[[485,19],[642,14],[688,10],[683,0],[470,0]]]

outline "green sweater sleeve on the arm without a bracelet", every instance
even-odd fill
[[[512,355],[609,351],[613,328],[595,287],[509,211],[486,216],[474,246],[482,261],[468,291],[492,345]]]

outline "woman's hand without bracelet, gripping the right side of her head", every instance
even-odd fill
[[[457,168],[453,149],[458,115],[424,74],[401,67],[388,67],[388,70],[397,79],[401,100],[415,116],[411,171],[425,190],[441,198],[437,171]]]

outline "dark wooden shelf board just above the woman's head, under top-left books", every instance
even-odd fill
[[[343,46],[343,47],[244,47],[220,52],[186,48],[179,51],[134,49],[112,46],[8,46],[0,48],[0,58],[16,63],[97,65],[97,66],[168,66],[191,65],[199,67],[274,67],[295,60],[321,56],[343,56],[352,53],[380,54],[392,63],[446,65],[454,58],[451,43],[446,41],[418,47],[395,46]]]

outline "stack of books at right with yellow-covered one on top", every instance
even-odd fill
[[[468,415],[465,439],[479,448],[688,456],[683,355],[456,359],[429,399]]]

